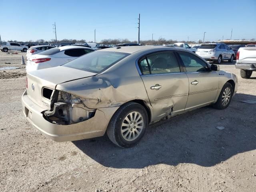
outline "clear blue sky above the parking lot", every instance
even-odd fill
[[[256,38],[256,0],[0,0],[2,40]]]

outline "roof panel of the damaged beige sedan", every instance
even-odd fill
[[[135,53],[142,50],[184,50],[177,47],[167,47],[167,46],[123,46],[123,47],[110,47],[107,49],[101,49],[97,51],[112,51],[112,52],[122,52],[122,53]]]

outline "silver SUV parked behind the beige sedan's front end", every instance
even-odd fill
[[[196,50],[196,54],[216,64],[220,64],[222,60],[233,62],[235,56],[234,51],[224,43],[202,44]]]

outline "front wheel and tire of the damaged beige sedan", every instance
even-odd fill
[[[220,92],[218,100],[213,104],[213,107],[216,109],[226,109],[232,99],[233,96],[233,86],[226,82]]]

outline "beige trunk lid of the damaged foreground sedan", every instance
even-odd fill
[[[56,85],[94,75],[96,75],[96,73],[64,66],[31,71],[27,73],[27,95],[38,106],[50,110],[51,99]],[[45,88],[48,89],[48,91],[52,90],[49,98],[43,96],[43,90]]]

